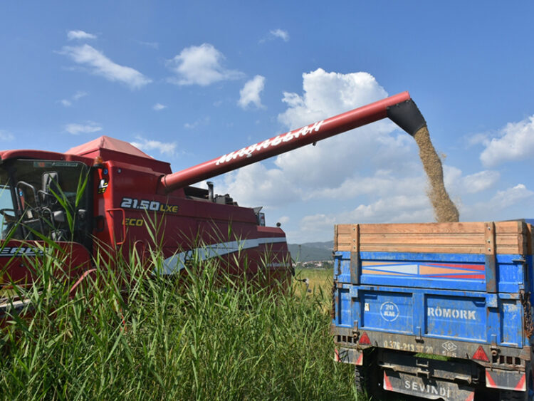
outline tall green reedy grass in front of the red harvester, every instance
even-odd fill
[[[61,266],[45,252],[16,288],[34,310],[1,329],[1,400],[357,399],[352,365],[333,362],[325,271],[301,274],[312,293],[268,293],[216,261],[182,280],[119,261],[69,294]]]

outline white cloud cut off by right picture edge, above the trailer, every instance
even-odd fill
[[[530,158],[534,152],[534,115],[518,123],[508,123],[498,137],[489,139],[478,135],[477,139],[486,147],[480,155],[486,167]]]

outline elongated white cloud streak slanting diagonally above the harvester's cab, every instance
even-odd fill
[[[92,46],[63,46],[61,54],[70,57],[75,63],[88,68],[95,74],[104,78],[124,83],[132,89],[142,88],[152,80],[145,75],[127,66],[120,66]]]

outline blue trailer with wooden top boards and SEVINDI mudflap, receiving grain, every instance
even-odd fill
[[[531,224],[335,226],[335,360],[358,389],[533,400]]]

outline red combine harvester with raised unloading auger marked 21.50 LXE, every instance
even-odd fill
[[[111,261],[133,247],[146,254],[154,245],[151,219],[160,224],[160,274],[176,274],[198,249],[197,257],[218,257],[231,272],[240,272],[239,252],[248,276],[263,269],[289,278],[286,235],[265,226],[260,207],[239,207],[228,194],[215,195],[210,183],[208,189],[190,185],[386,117],[411,135],[424,125],[404,92],[175,173],[169,163],[110,137],[66,153],[0,152],[0,286],[31,284],[28,258],[45,237],[66,250],[73,282],[95,265],[100,246]],[[1,294],[0,287],[0,317]]]

